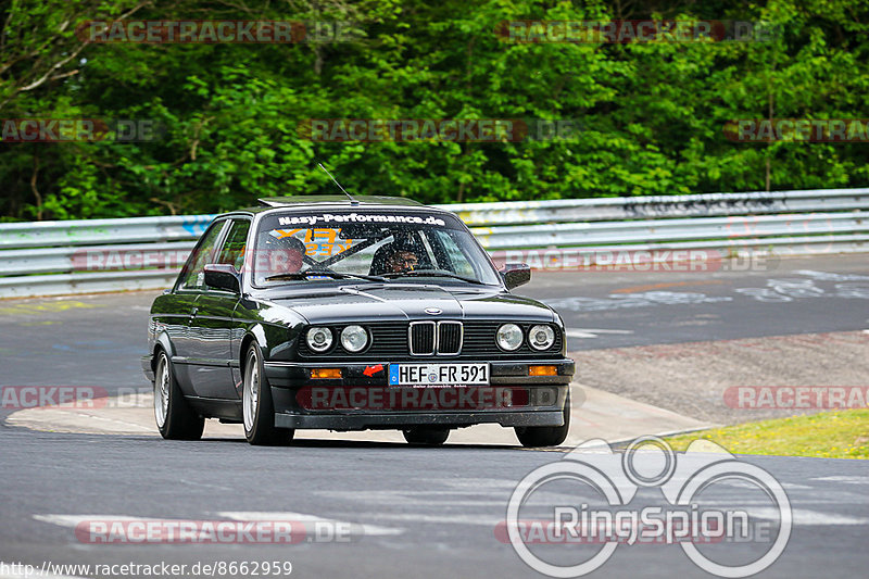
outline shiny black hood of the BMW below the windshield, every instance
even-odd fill
[[[405,319],[555,319],[549,306],[499,289],[448,289],[429,285],[343,286],[331,291],[299,293],[269,301],[294,311],[311,324]]]

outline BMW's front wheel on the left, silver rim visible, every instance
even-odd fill
[[[253,445],[275,446],[289,444],[294,429],[275,427],[275,405],[272,387],[265,377],[265,366],[260,347],[251,343],[244,356],[243,389],[241,394],[244,438]]]

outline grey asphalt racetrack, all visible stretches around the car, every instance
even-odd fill
[[[556,305],[574,351],[869,328],[865,255],[784,260],[747,272],[540,274],[518,292]],[[110,393],[147,386],[138,356],[152,297],[0,301],[0,383],[101,386]],[[565,455],[337,441],[264,449],[235,440],[168,442],[8,426],[0,427],[0,562],[166,562],[187,564],[188,577],[206,575],[191,571],[196,563],[266,561],[290,562],[293,577],[541,576],[496,538],[495,528],[517,482]],[[605,458],[582,455],[590,465]],[[759,577],[865,576],[866,462],[738,458],[772,475],[793,508],[790,542]],[[764,506],[763,496],[740,484],[719,491],[719,502]],[[554,496],[559,505],[578,501],[566,492]],[[643,489],[630,504],[666,503],[657,489]],[[74,532],[77,523],[101,517],[282,517],[349,534],[342,534],[347,541],[318,542],[308,540],[308,529],[302,542],[289,545],[106,545]],[[720,547],[721,561],[739,551]],[[578,552],[558,545],[542,553],[555,561]],[[591,576],[711,577],[676,545],[619,545]]]

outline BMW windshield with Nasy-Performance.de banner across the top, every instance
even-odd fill
[[[416,211],[307,211],[267,215],[245,259],[253,285],[332,279],[500,285],[462,222]]]

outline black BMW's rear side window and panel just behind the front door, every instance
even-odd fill
[[[212,224],[190,253],[171,293],[172,315],[164,320],[175,351],[172,357],[175,377],[186,394],[196,395],[191,380],[191,358],[200,339],[196,328],[192,327],[197,314],[197,300],[205,286],[205,264],[213,260],[226,224],[225,219]]]

